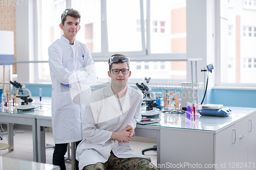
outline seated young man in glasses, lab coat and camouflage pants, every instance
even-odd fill
[[[109,59],[111,84],[94,91],[82,116],[83,140],[77,147],[79,169],[156,169],[150,157],[131,150],[143,94],[127,86],[130,59]]]

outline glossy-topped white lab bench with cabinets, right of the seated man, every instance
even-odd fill
[[[198,123],[162,114],[160,163],[182,164],[178,169],[255,169],[256,108],[229,108],[227,117],[200,116]]]

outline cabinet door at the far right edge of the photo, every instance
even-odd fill
[[[248,141],[248,169],[255,169],[256,163],[256,113],[248,117],[249,141]],[[254,163],[254,164],[253,164]]]

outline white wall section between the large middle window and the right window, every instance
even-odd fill
[[[187,20],[187,52],[188,59],[201,58],[198,62],[198,81],[204,82],[204,72],[208,64],[215,65],[215,1],[193,0],[186,2]],[[187,82],[191,82],[191,67],[187,64]],[[212,76],[215,76],[215,70]],[[213,77],[215,80],[215,77]],[[211,75],[209,74],[208,89],[213,87]],[[207,94],[209,94],[210,90]],[[201,101],[200,101],[201,102]]]

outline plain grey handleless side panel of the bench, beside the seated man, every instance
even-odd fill
[[[213,163],[214,134],[197,130],[176,130],[163,127],[160,131],[161,170],[201,169],[195,168],[194,165],[200,164],[203,168],[205,164]],[[169,163],[172,163],[172,168]],[[180,164],[183,166],[180,166]],[[213,168],[207,168],[207,170],[209,169]]]

